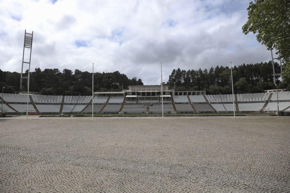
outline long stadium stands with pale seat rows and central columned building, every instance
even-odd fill
[[[129,86],[122,92],[95,92],[92,96],[29,94],[29,114],[160,114],[160,85]],[[290,112],[290,92],[206,95],[205,91],[175,91],[163,86],[164,113],[275,113]],[[234,101],[233,101],[234,98]],[[2,100],[2,98],[1,98]],[[3,94],[3,112],[26,113],[27,94]],[[92,111],[92,103],[94,109]]]

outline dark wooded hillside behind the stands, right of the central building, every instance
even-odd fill
[[[280,73],[280,65],[274,63],[275,73]],[[290,84],[278,80],[280,76],[276,76],[278,88],[290,90]],[[273,67],[272,62],[243,64],[233,67],[233,83],[234,92],[239,93],[259,93],[266,89],[276,89],[273,83]],[[205,90],[207,94],[231,94],[231,69],[226,66],[211,67],[199,70],[181,70],[173,69],[167,82],[170,89],[176,91],[186,90]]]

